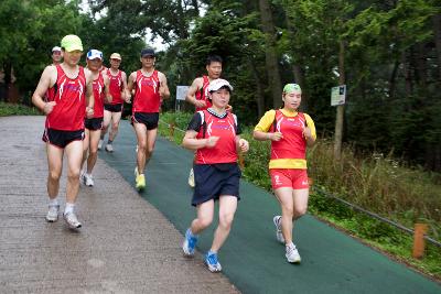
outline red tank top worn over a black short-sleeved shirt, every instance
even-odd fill
[[[223,119],[213,116],[207,110],[201,110],[202,126],[197,139],[219,137],[214,148],[202,148],[196,151],[196,164],[235,163],[236,151],[236,117],[227,112]],[[204,127],[205,123],[205,127]]]

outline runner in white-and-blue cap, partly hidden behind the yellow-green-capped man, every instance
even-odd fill
[[[92,171],[98,157],[98,141],[103,129],[104,102],[110,102],[109,78],[106,73],[99,72],[103,64],[103,52],[90,50],[87,53],[87,69],[92,72],[94,89],[94,117],[85,120],[85,138],[83,144],[83,163],[87,160],[87,168],[80,174],[80,179],[86,186],[94,186]],[[88,154],[87,154],[88,151]],[[82,168],[83,170],[83,168]]]

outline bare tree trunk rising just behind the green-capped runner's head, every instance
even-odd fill
[[[279,72],[279,62],[276,52],[276,29],[272,21],[271,9],[268,0],[259,0],[260,20],[265,33],[266,43],[266,65],[268,73],[268,84],[271,87],[272,106],[279,108],[282,101],[282,86]]]

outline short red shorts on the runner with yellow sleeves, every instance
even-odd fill
[[[306,170],[298,168],[271,168],[272,189],[289,187],[293,189],[305,189],[310,187]]]

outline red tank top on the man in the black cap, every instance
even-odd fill
[[[158,70],[154,70],[150,77],[138,70],[135,86],[132,112],[159,112],[161,97],[159,96],[160,81]]]

